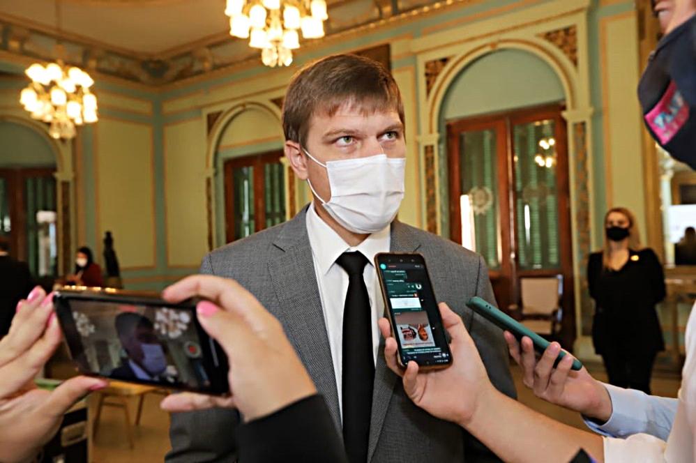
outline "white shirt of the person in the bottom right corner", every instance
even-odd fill
[[[649,434],[633,434],[626,439],[605,437],[606,462],[696,461],[696,304],[686,325],[686,362],[681,378],[679,403],[667,443]]]

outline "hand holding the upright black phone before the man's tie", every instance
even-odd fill
[[[452,338],[452,365],[420,373],[414,361],[409,362],[406,370],[399,367],[396,340],[386,318],[379,320],[379,330],[385,338],[384,356],[388,367],[402,377],[404,390],[418,407],[437,418],[465,425],[485,403],[494,387],[462,317],[445,303],[440,303],[439,309],[444,328]]]

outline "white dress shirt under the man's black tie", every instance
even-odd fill
[[[318,206],[321,207],[321,206]],[[381,232],[376,232],[365,238],[365,241],[357,246],[349,246],[343,238],[338,236],[331,227],[322,220],[315,211],[315,203],[310,204],[307,215],[307,234],[312,247],[314,268],[319,284],[319,297],[321,308],[324,310],[326,333],[328,344],[331,346],[331,358],[333,359],[333,371],[336,376],[336,388],[338,390],[338,407],[343,416],[342,378],[343,378],[343,308],[348,291],[348,274],[341,266],[336,264],[336,259],[344,252],[361,252],[368,258],[368,264],[363,271],[365,286],[368,287],[370,297],[370,310],[372,312],[372,356],[377,362],[377,349],[379,349],[379,328],[377,320],[384,316],[384,301],[377,281],[375,269],[375,255],[378,252],[389,252],[391,236],[390,226],[387,225]]]

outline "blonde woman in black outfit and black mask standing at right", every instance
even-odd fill
[[[595,351],[604,359],[609,383],[650,393],[650,374],[665,349],[655,305],[665,298],[662,265],[641,248],[635,216],[615,207],[605,215],[604,249],[587,264]]]

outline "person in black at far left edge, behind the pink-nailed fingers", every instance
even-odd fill
[[[0,337],[10,331],[17,303],[33,287],[29,266],[10,257],[9,251],[8,242],[0,239]]]

